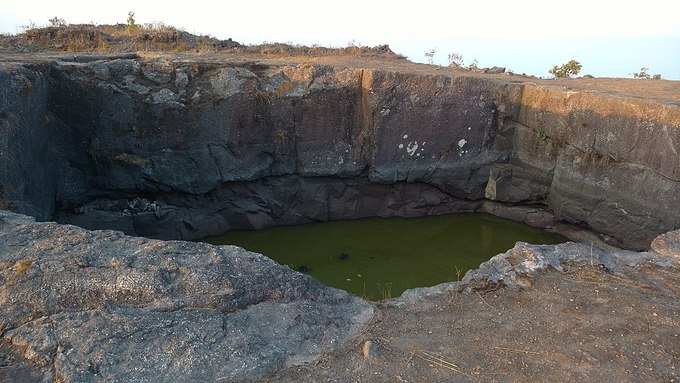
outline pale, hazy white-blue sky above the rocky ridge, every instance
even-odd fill
[[[389,44],[417,62],[436,48],[437,64],[456,52],[465,63],[538,76],[576,59],[583,74],[631,77],[644,66],[680,80],[680,0],[0,0],[0,32],[54,16],[122,23],[128,11],[139,23],[245,44]]]

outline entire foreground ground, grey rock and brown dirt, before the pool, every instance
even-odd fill
[[[513,249],[375,304],[235,247],[0,215],[0,380],[658,381],[680,233]]]

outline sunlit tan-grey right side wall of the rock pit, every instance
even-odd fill
[[[558,219],[649,248],[680,227],[680,108],[526,86],[510,161],[486,196],[547,203]]]

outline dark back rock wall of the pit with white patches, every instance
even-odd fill
[[[71,180],[58,217],[88,228],[193,239],[472,211],[507,157],[493,101],[506,90],[475,78],[129,59],[50,76],[73,137],[57,145]]]

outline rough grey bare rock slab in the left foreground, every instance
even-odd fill
[[[4,211],[0,307],[3,347],[31,366],[0,374],[60,382],[255,379],[335,349],[373,313],[241,248]]]

